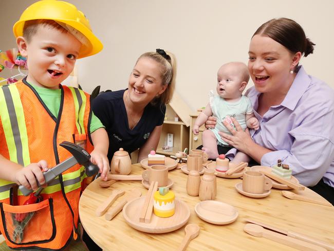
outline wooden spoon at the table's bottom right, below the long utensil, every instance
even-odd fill
[[[278,243],[281,243],[281,244],[284,244],[284,245],[287,245],[287,246],[290,246],[290,247],[293,247],[299,250],[303,250],[303,251],[314,251],[314,250],[325,251],[326,250],[325,248],[321,246],[313,245],[305,241],[294,239],[292,237],[285,236],[277,232],[267,230],[262,226],[252,224],[252,223],[247,223],[244,227],[244,231],[252,236],[264,237],[269,240],[272,240],[272,241],[275,241],[275,242],[278,242]]]

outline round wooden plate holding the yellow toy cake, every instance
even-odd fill
[[[190,209],[188,205],[180,199],[175,198],[175,213],[173,216],[161,218],[153,213],[150,223],[139,222],[140,210],[138,210],[138,208],[141,208],[144,202],[145,196],[129,201],[123,207],[123,217],[126,223],[139,231],[150,232],[153,234],[171,232],[179,229],[189,220]]]

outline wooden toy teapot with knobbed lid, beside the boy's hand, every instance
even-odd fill
[[[110,163],[110,173],[128,175],[131,173],[131,165],[131,158],[128,152],[120,148],[119,151],[114,153]]]

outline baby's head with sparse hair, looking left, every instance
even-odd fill
[[[234,65],[223,65],[217,73],[217,93],[224,99],[236,99],[243,93],[241,71]]]

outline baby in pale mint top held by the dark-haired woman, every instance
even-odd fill
[[[259,128],[259,122],[254,116],[250,100],[242,95],[249,80],[247,66],[242,62],[226,63],[219,68],[217,78],[218,96],[213,96],[211,93],[210,102],[205,110],[198,115],[193,127],[193,133],[198,135],[199,127],[207,121],[208,117],[216,117],[216,127],[202,133],[202,150],[211,159],[218,157],[217,145],[231,148],[218,134],[218,132],[224,132],[231,135],[222,123],[224,120],[233,128],[235,127],[231,117],[239,122],[243,130],[246,130],[247,127],[254,130]],[[249,157],[242,152],[238,152],[233,159],[234,163],[248,161]]]

